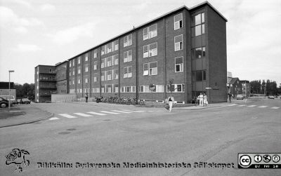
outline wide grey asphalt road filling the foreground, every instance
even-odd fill
[[[5,164],[15,148],[30,153],[30,165],[20,175],[280,175],[280,169],[237,168],[238,153],[281,153],[280,100],[171,113],[115,104],[35,106],[54,113],[53,119],[0,128],[0,175],[16,174],[15,164]],[[39,168],[44,162],[72,163],[73,168]],[[191,167],[124,168],[138,162]],[[195,168],[199,162],[229,163],[230,168]],[[76,163],[119,163],[121,168],[75,168]]]

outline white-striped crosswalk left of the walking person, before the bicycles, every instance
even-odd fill
[[[89,112],[74,112],[69,114],[57,114],[56,116],[50,118],[50,121],[59,120],[59,119],[75,119],[83,117],[95,117],[95,116],[107,116],[107,115],[118,115],[118,114],[131,114],[131,113],[142,113],[145,111],[136,111],[136,110],[110,110],[110,111],[89,111]]]

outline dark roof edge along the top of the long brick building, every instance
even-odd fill
[[[113,40],[119,38],[120,36],[123,36],[123,35],[125,35],[125,34],[130,33],[130,32],[133,32],[133,31],[136,30],[136,29],[140,29],[140,28],[144,27],[145,25],[150,24],[151,22],[155,22],[155,21],[157,21],[157,20],[159,20],[159,19],[161,19],[161,18],[164,18],[164,17],[166,17],[166,16],[168,16],[168,15],[171,15],[172,13],[176,13],[177,11],[181,11],[181,10],[183,10],[183,9],[185,9],[185,10],[187,10],[187,11],[192,11],[192,10],[195,10],[196,8],[200,8],[200,7],[206,6],[206,5],[207,5],[207,6],[210,6],[216,13],[218,13],[218,15],[220,15],[221,18],[223,18],[223,20],[226,20],[226,22],[228,21],[220,12],[218,12],[218,10],[216,10],[216,8],[214,8],[214,6],[211,6],[211,4],[209,4],[208,1],[204,1],[204,2],[202,2],[201,4],[197,4],[196,6],[193,6],[192,8],[188,8],[187,6],[181,6],[181,7],[179,7],[179,8],[174,9],[173,11],[170,11],[170,12],[168,12],[168,13],[165,13],[164,15],[160,15],[159,17],[157,17],[157,18],[155,18],[155,19],[153,19],[153,20],[150,20],[150,21],[148,21],[148,22],[145,22],[145,23],[143,23],[142,25],[139,25],[139,26],[137,26],[137,27],[133,27],[133,29],[130,29],[129,31],[126,31],[126,32],[123,32],[122,34],[119,34],[119,35],[117,35],[117,36],[114,36],[113,38],[111,38],[111,39],[109,39],[109,40],[107,40],[107,41],[104,41],[103,43],[100,43],[100,44],[98,44],[97,46],[94,46],[94,47],[92,47],[92,48],[90,48],[90,49],[84,51],[83,53],[79,53],[78,55],[75,55],[74,57],[71,57],[71,58],[68,59],[68,60],[72,60],[72,59],[74,59],[75,57],[78,57],[79,55],[83,55],[84,53],[87,53],[87,52],[89,52],[90,50],[93,50],[94,48],[98,48],[99,46],[103,46],[105,43],[107,43],[107,42],[109,42],[109,41],[113,41]]]

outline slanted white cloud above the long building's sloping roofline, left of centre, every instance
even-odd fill
[[[93,37],[93,29],[95,29],[95,26],[95,23],[88,22],[85,25],[79,25],[75,27],[70,27],[69,29],[60,30],[55,34],[49,34],[49,36],[53,38],[53,41],[55,43],[63,45],[66,43],[76,41],[80,37]]]

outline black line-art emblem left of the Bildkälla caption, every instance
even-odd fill
[[[22,165],[30,165],[30,161],[25,159],[30,153],[26,150],[13,149],[10,154],[6,155],[6,165],[15,164],[15,171],[22,172]]]

